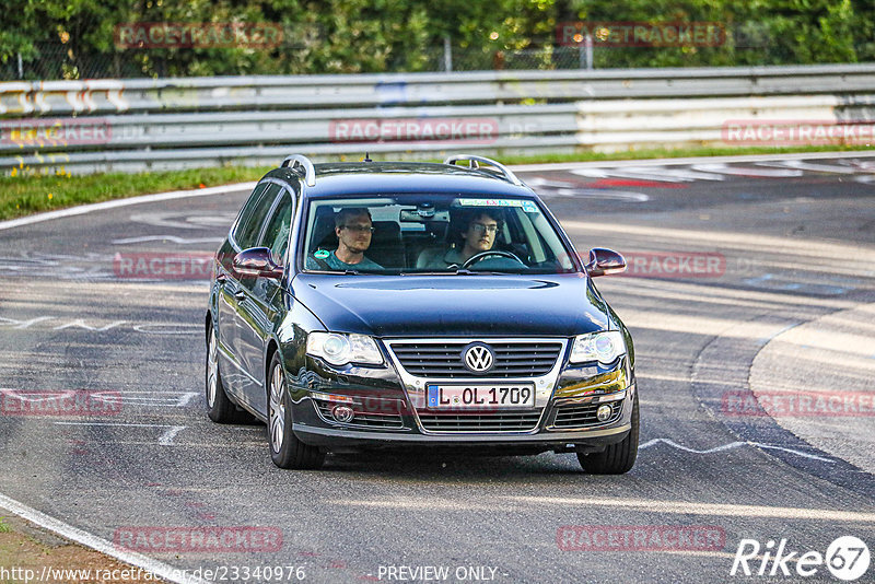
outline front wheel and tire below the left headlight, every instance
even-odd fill
[[[325,463],[325,452],[304,444],[292,431],[292,408],[279,352],[273,353],[268,371],[267,441],[270,445],[270,459],[280,468],[318,470]]]

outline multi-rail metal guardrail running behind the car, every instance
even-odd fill
[[[728,120],[873,118],[875,66],[0,83],[0,172],[139,172],[725,143]]]

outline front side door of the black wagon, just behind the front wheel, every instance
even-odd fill
[[[273,262],[284,267],[293,214],[292,196],[278,184],[271,184],[268,191],[278,192],[279,196],[275,198],[253,247],[269,248]],[[273,301],[281,291],[282,278],[249,277],[240,282],[242,300],[237,303],[237,348],[245,373],[241,399],[256,411],[266,413],[264,354],[278,313]]]

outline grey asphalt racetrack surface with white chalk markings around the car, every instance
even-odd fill
[[[629,275],[597,280],[637,343],[641,452],[628,475],[588,476],[573,455],[423,452],[283,471],[264,425],[211,423],[207,280],[133,277],[118,258],[213,252],[247,195],[233,192],[0,230],[4,397],[120,399],[98,416],[3,410],[0,493],[108,541],[259,527],[273,537],[253,539],[259,551],[143,548],[236,582],[292,565],[307,582],[441,581],[425,567],[457,582],[840,582],[795,569],[840,536],[875,549],[875,159],[702,164],[521,172],[581,253],[630,259]],[[779,390],[845,406],[766,411]],[[684,527],[704,542],[676,539]],[[762,550],[754,575],[732,576],[743,539]],[[769,577],[767,563],[757,576],[781,539],[797,552],[792,575]],[[875,567],[859,581],[873,580]]]

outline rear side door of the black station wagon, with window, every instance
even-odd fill
[[[220,250],[222,261],[220,272],[217,273],[218,284],[221,287],[218,302],[219,347],[223,365],[230,365],[223,366],[222,381],[225,390],[237,398],[242,398],[246,385],[240,348],[241,323],[237,317],[238,304],[245,296],[241,277],[234,272],[231,264],[236,253],[255,244],[277,194],[277,190],[270,192],[270,183],[260,183],[255,187],[229,234],[226,246]]]

